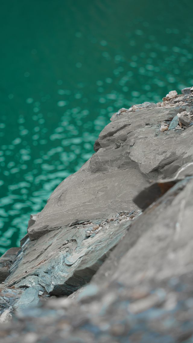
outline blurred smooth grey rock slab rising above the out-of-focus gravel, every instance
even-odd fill
[[[151,191],[146,193],[144,201],[149,200],[151,205],[131,222],[124,240],[94,275],[93,282],[98,280],[98,285],[108,288],[113,281],[119,280],[121,286],[133,289],[139,285],[149,287],[153,280],[160,285],[161,280],[167,278],[173,279],[171,282],[175,284],[178,277],[183,279],[184,273],[190,273],[193,265],[193,177],[171,179],[171,182],[173,187],[156,201]],[[116,267],[110,268],[112,265]],[[192,272],[191,275],[193,277]]]

